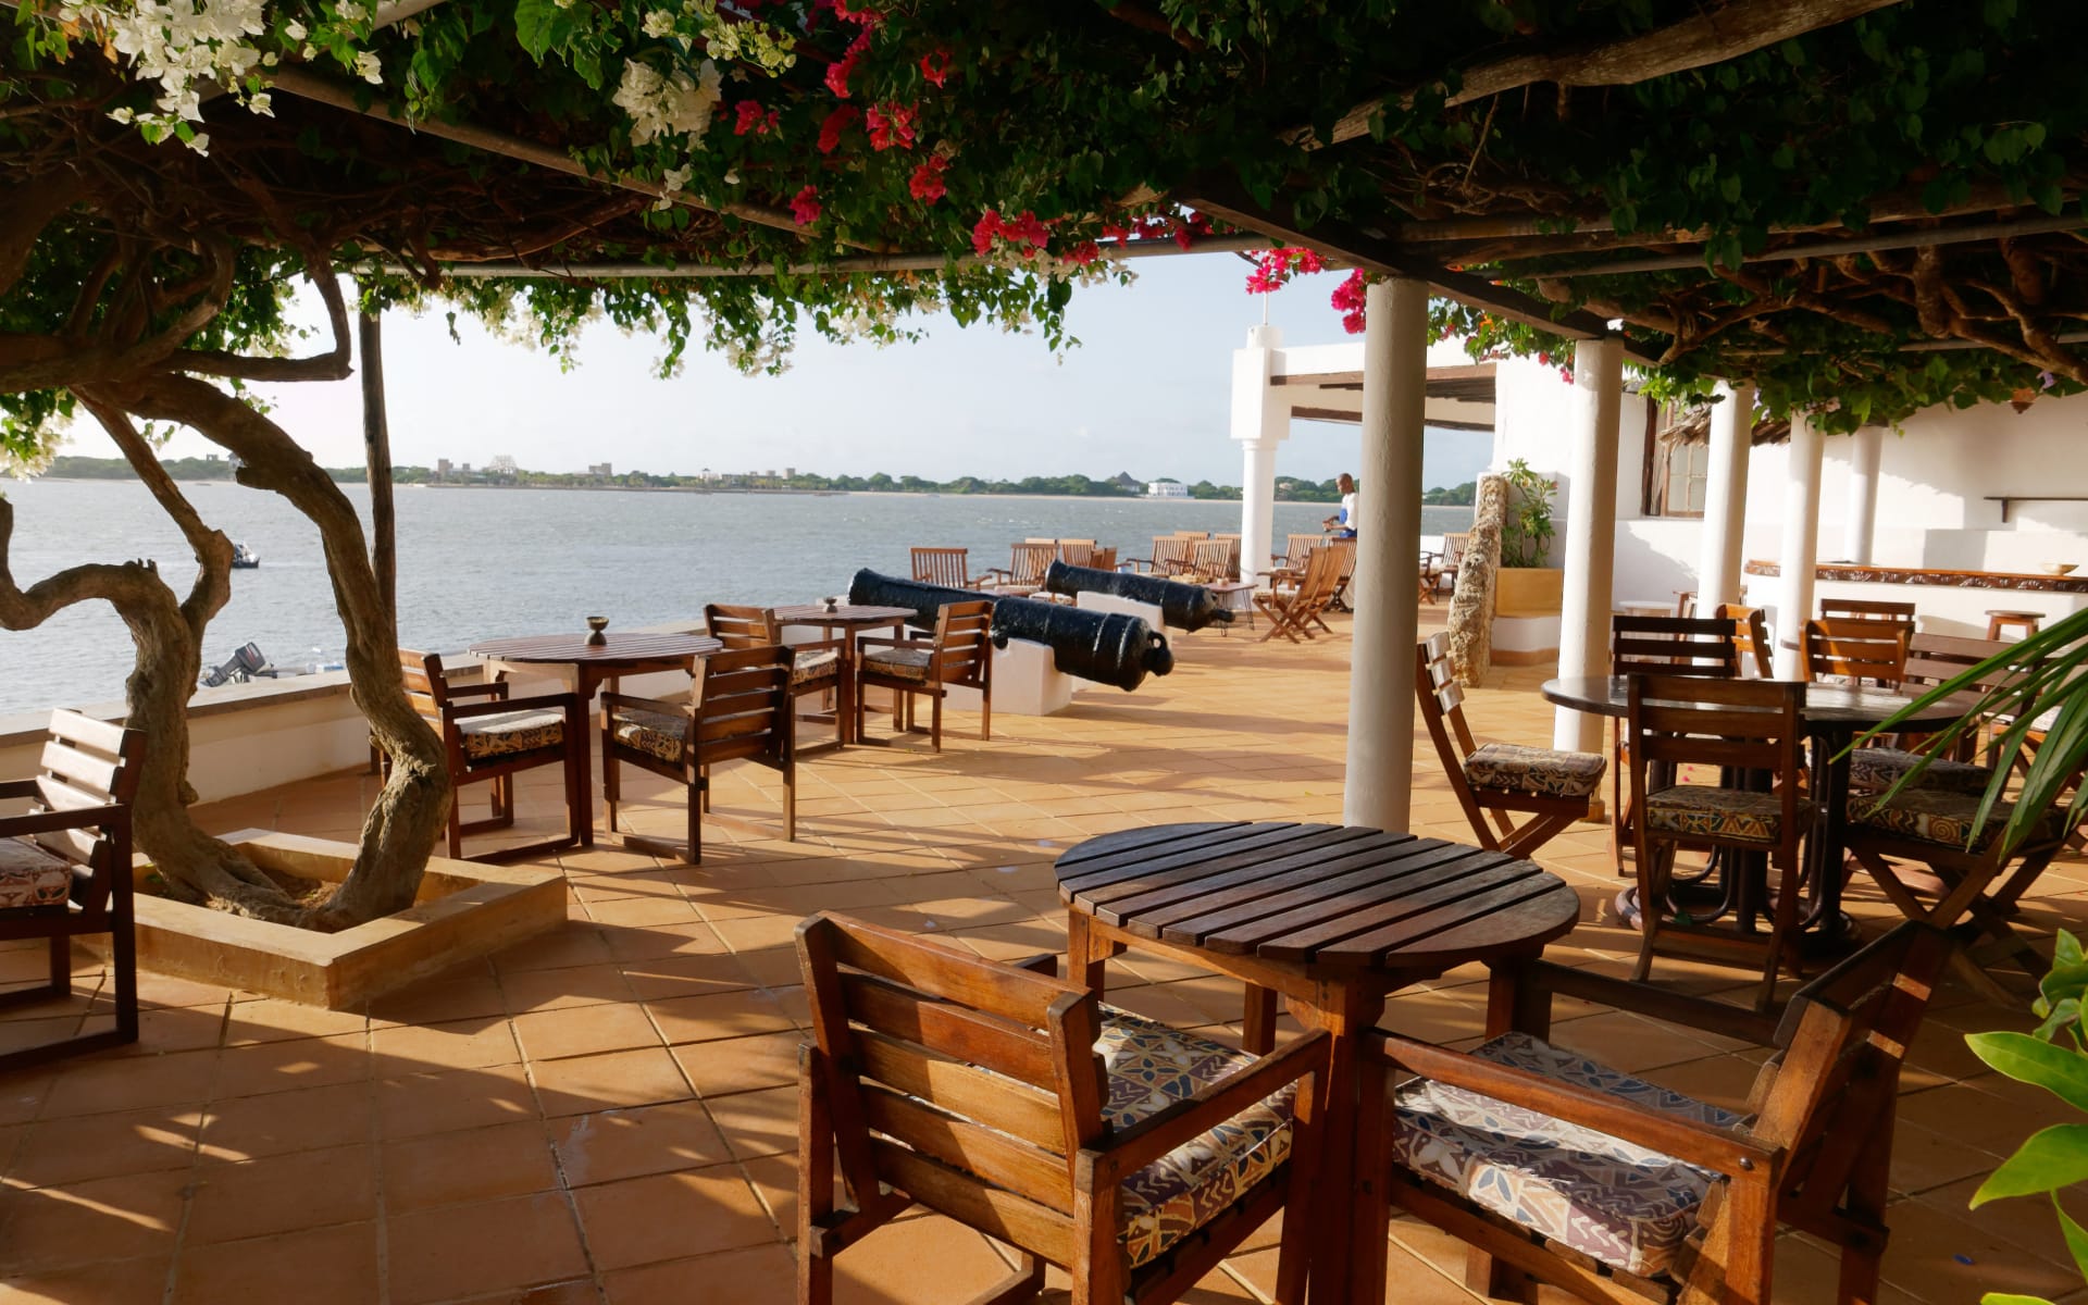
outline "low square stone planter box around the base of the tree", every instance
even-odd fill
[[[355,864],[355,844],[265,829],[226,841],[263,869],[330,883]],[[434,856],[409,910],[340,933],[169,902],[146,892],[150,871],[136,871],[140,969],[336,1011],[566,923],[564,875],[532,867]]]

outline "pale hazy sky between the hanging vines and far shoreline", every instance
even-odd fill
[[[493,340],[459,322],[451,340],[441,311],[384,319],[384,382],[393,461],[518,466],[578,472],[610,461],[658,474],[781,470],[827,476],[1065,476],[1130,472],[1240,482],[1228,438],[1232,351],[1244,345],[1267,299],[1286,345],[1349,336],[1328,307],[1338,274],[1305,276],[1284,290],[1244,290],[1234,255],[1144,259],[1138,280],[1077,288],[1067,324],[1082,342],[1054,357],[1042,334],[958,328],[927,319],[919,345],[829,345],[800,332],[783,376],[741,376],[720,355],[691,349],[687,367],[658,380],[662,345],[595,326],[578,365]],[[313,322],[319,315],[311,313]],[[257,386],[322,466],[361,466],[357,382]],[[167,455],[215,451],[177,432]],[[113,457],[115,447],[75,424],[67,453]],[[1432,430],[1424,484],[1472,480],[1487,464],[1485,432]],[[1278,449],[1278,476],[1326,480],[1353,470],[1357,428],[1297,422]]]

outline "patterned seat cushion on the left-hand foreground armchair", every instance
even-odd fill
[[[1109,1006],[1094,1050],[1109,1082],[1102,1121],[1113,1128],[1130,1128],[1255,1063],[1221,1042]],[[1123,1182],[1119,1236],[1134,1267],[1209,1224],[1290,1155],[1290,1096],[1292,1088],[1284,1088]]]

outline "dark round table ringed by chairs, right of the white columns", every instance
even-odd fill
[[[1629,674],[1545,681],[1541,693],[1547,702],[1556,702],[1562,708],[1593,712],[1597,716],[1627,716],[1631,712]],[[1915,702],[1906,693],[1869,685],[1806,685],[1804,718],[1806,735],[1812,739],[1812,798],[1821,804],[1821,812],[1812,823],[1812,839],[1806,852],[1806,873],[1812,877],[1814,896],[1804,925],[1808,940],[1823,940],[1827,950],[1833,950],[1846,933],[1842,921],[1842,860],[1848,854],[1850,745],[1858,733],[1883,725],[1900,710],[1915,706]],[[1942,729],[1969,708],[1969,697],[1944,699],[1908,718],[1906,729],[1915,733]]]

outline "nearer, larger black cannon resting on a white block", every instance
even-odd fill
[[[994,647],[1009,639],[1029,639],[1052,651],[1052,666],[1084,681],[1136,689],[1146,674],[1173,670],[1173,649],[1167,637],[1136,616],[1121,612],[1082,612],[1027,597],[998,597],[975,589],[950,589],[881,576],[858,570],[848,587],[848,601],[875,608],[912,608],[908,624],[931,628],[935,610],[944,603],[994,603]]]

